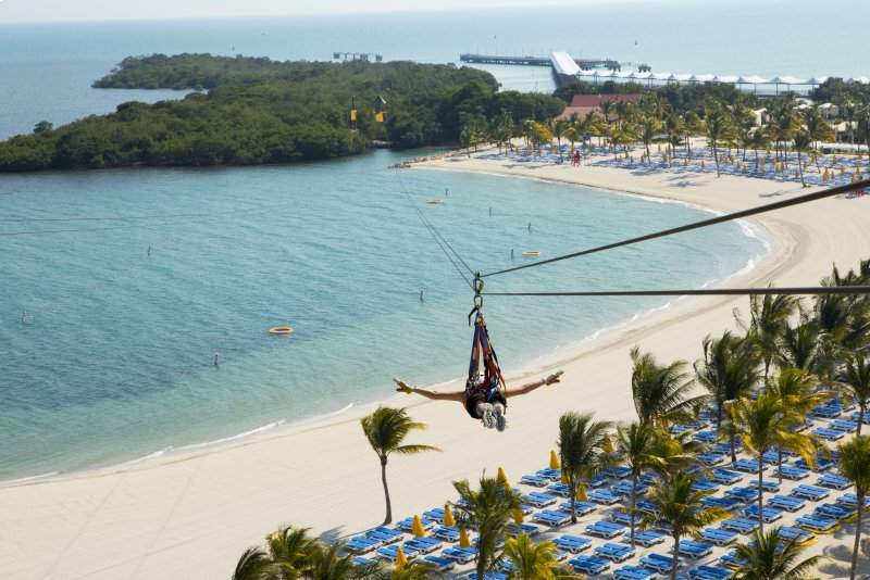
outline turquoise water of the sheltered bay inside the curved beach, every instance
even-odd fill
[[[704,215],[536,180],[386,169],[397,159],[0,177],[0,477],[335,412],[383,399],[397,375],[461,376],[471,294],[414,205],[484,272],[509,265],[511,249],[555,255]],[[445,188],[445,204],[424,203]],[[729,225],[489,288],[695,287],[759,252]],[[515,369],[662,303],[493,298],[486,311]],[[266,333],[283,324],[296,335]]]

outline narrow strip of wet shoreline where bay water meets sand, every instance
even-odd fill
[[[422,159],[426,161],[414,161],[412,162],[412,166],[415,166],[418,168],[433,169],[433,171],[453,171],[450,168],[440,169],[434,167],[426,167],[425,164],[427,163],[428,160],[431,160],[431,157],[422,157]],[[548,178],[540,178],[540,177],[525,176],[525,175],[514,176],[514,175],[505,175],[502,173],[492,173],[492,172],[467,172],[467,173],[481,173],[483,175],[489,175],[493,177],[502,177],[512,179],[532,179],[549,184],[563,185],[572,188],[589,187],[596,190],[605,191],[609,194],[642,199],[655,203],[681,205],[684,207],[701,211],[705,213],[710,213],[712,215],[723,214],[723,212],[721,211],[707,207],[700,204],[686,202],[680,199],[650,197],[645,193],[639,193],[634,191],[623,191],[614,188],[606,188],[598,186],[587,186],[585,184],[579,184],[570,180],[548,179]],[[732,272],[721,278],[710,278],[709,280],[700,285],[698,288],[705,288],[711,282],[722,282],[724,285],[728,285],[733,279],[741,279],[742,277],[747,276],[751,272],[756,270],[756,268],[758,268],[759,263],[761,263],[772,252],[773,242],[771,241],[770,236],[766,234],[763,226],[761,226],[760,224],[746,226],[749,220],[746,219],[738,220],[738,224],[743,229],[743,235],[749,238],[757,239],[763,248],[762,253],[750,256],[747,260],[746,264],[744,264],[744,266],[741,267],[738,270]],[[746,230],[746,227],[749,228],[748,232]],[[614,332],[626,330],[634,324],[641,324],[658,315],[666,316],[667,314],[673,312],[674,308],[679,308],[681,305],[691,303],[692,301],[693,297],[670,297],[663,304],[645,310],[638,310],[627,318],[623,318],[610,325],[597,328],[591,331],[588,335],[579,338],[572,338],[563,344],[552,345],[551,348],[545,349],[545,352],[534,355],[529,361],[525,361],[524,363],[519,365],[518,370],[511,374],[510,377],[512,379],[515,378],[525,379],[537,373],[531,369],[537,369],[542,365],[545,367],[551,367],[551,366],[568,364],[577,358],[577,353],[580,350],[589,346],[594,348],[595,346],[594,343],[596,341],[606,339],[608,337],[612,337]],[[445,388],[459,389],[461,388],[462,380],[463,380],[462,377],[458,377],[453,379],[442,380],[432,384],[424,384],[423,387],[435,390]],[[247,429],[245,431],[240,431],[238,433],[231,433],[227,436],[217,437],[216,439],[213,440],[185,443],[178,446],[171,445],[167,447],[147,452],[139,456],[135,456],[128,459],[122,459],[107,465],[96,465],[72,470],[52,470],[50,472],[41,475],[24,476],[20,478],[0,480],[0,490],[8,488],[15,488],[20,486],[38,486],[41,483],[63,481],[63,480],[80,479],[87,477],[100,477],[111,474],[123,474],[127,470],[135,470],[139,467],[150,468],[150,467],[156,467],[158,465],[164,465],[167,463],[187,461],[196,458],[197,456],[203,454],[220,453],[221,451],[244,445],[248,442],[256,442],[258,438],[266,438],[266,439],[282,438],[286,436],[291,436],[294,432],[298,430],[303,430],[307,427],[313,425],[318,426],[322,425],[323,427],[330,427],[335,423],[344,423],[346,420],[359,419],[366,413],[371,412],[373,407],[377,405],[390,404],[394,402],[395,402],[395,394],[375,401],[353,402],[335,411],[324,411],[322,413],[318,413],[312,416],[300,417],[297,419],[282,418],[258,427],[253,427],[251,429]],[[365,413],[362,413],[361,412],[362,409],[364,409]]]

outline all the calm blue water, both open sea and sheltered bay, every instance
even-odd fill
[[[869,17],[857,2],[823,10],[801,1],[650,2],[0,25],[0,136],[130,99],[178,97],[88,88],[128,54],[328,59],[346,50],[452,62],[463,51],[562,49],[658,71],[858,76],[868,73],[859,39]],[[507,87],[551,88],[546,70],[494,72]],[[470,292],[414,205],[482,270],[510,264],[511,249],[555,255],[704,215],[533,180],[388,171],[398,159],[378,151],[287,167],[0,177],[0,479],[119,463],[338,412],[384,398],[393,376],[461,376]],[[424,203],[445,188],[445,204]],[[762,252],[746,234],[722,226],[534,268],[497,286],[700,286]],[[663,304],[492,299],[486,306],[511,369]],[[296,335],[266,333],[281,324]]]

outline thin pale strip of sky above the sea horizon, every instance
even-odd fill
[[[0,23],[457,10],[598,2],[613,3],[614,0],[0,0]]]

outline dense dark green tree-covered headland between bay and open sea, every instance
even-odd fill
[[[486,72],[410,62],[274,62],[209,54],[126,59],[97,87],[208,89],[127,102],[63,127],[40,123],[0,143],[0,172],[128,166],[257,165],[457,142],[467,126],[545,119],[563,102],[498,92]],[[377,123],[374,101],[387,104]],[[350,106],[359,110],[351,127]]]

